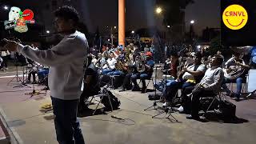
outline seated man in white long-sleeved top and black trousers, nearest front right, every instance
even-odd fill
[[[186,87],[184,90],[182,90],[182,107],[184,107],[184,111],[186,111],[186,113],[191,114],[187,117],[188,119],[200,120],[198,114],[200,110],[199,98],[211,97],[218,94],[220,91],[224,78],[221,67],[222,62],[223,58],[221,56],[217,54],[214,55],[210,61],[211,67],[206,70],[206,74],[204,74],[204,77],[198,83],[198,85]],[[190,95],[190,97],[188,97],[188,95]],[[191,111],[188,109],[191,109]]]

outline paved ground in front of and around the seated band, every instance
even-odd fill
[[[17,82],[6,86],[9,81],[10,78],[0,78],[0,107],[11,135],[16,138],[12,138],[12,142],[57,143],[54,116],[41,110],[43,103],[50,102],[50,92],[30,98],[26,93],[32,92],[31,88],[13,88]],[[35,89],[40,88],[35,86]],[[235,122],[218,122],[216,117],[210,118],[210,122],[197,122],[186,120],[185,114],[174,113],[174,118],[178,119],[175,122],[174,119],[151,118],[158,111],[144,111],[153,103],[147,99],[147,94],[131,91],[118,93],[117,90],[113,93],[122,102],[120,110],[94,116],[88,112],[79,118],[87,144],[255,143],[255,99],[232,101],[237,106],[238,120]],[[125,118],[125,121],[111,118],[112,114]]]

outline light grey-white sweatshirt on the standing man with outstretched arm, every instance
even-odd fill
[[[34,50],[21,44],[17,50],[26,58],[50,66],[48,79],[52,97],[62,100],[80,98],[88,50],[85,34],[75,31],[49,50]]]

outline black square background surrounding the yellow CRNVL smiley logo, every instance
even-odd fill
[[[248,14],[246,26],[240,30],[230,30],[222,21],[222,14],[230,5],[244,7]],[[222,0],[221,1],[221,40],[223,46],[256,46],[256,1],[255,0]]]

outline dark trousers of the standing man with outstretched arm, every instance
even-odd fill
[[[82,130],[77,119],[79,100],[62,100],[51,97],[54,124],[59,144],[84,144]]]

